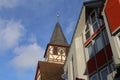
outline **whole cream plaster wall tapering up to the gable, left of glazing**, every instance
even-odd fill
[[[72,61],[72,57],[73,57],[73,63],[71,65],[74,66],[74,72],[72,72],[74,73],[74,78],[77,77],[87,80],[87,76],[84,75],[84,72],[86,70],[86,65],[85,65],[85,58],[84,58],[85,53],[84,53],[83,41],[82,41],[83,39],[81,35],[84,29],[85,29],[85,7],[83,6],[80,19],[78,20],[77,28],[75,30],[73,40],[71,42],[67,60],[64,65],[65,71],[68,68],[68,74],[69,74],[68,80],[71,80],[73,78],[73,75],[70,73],[71,71],[69,71],[70,70],[69,63],[71,63],[70,61]]]

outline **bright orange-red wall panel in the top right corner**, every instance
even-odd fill
[[[105,12],[110,30],[114,32],[120,26],[120,0],[107,0]]]

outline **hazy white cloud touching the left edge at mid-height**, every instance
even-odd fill
[[[0,19],[0,52],[14,48],[23,34],[20,21]]]

